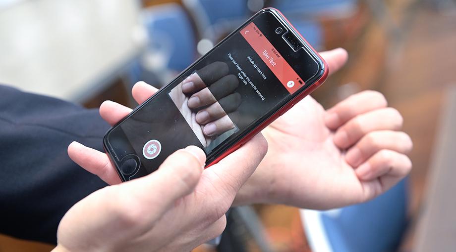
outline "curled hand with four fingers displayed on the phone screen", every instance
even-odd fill
[[[241,103],[237,77],[225,62],[214,62],[188,76],[170,94],[182,116],[204,146],[234,128],[227,114]]]

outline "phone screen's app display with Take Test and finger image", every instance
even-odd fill
[[[188,145],[210,156],[284,105],[305,83],[271,43],[282,35],[263,33],[266,25],[253,20],[114,128],[115,158],[136,153],[150,173]]]

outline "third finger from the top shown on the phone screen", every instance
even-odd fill
[[[219,102],[213,103],[209,107],[196,113],[196,122],[200,125],[215,121],[231,113],[239,107],[241,96],[239,93],[233,93],[221,99]]]

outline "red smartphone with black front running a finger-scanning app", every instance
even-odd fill
[[[205,151],[209,167],[327,75],[325,61],[285,16],[262,9],[113,126],[105,151],[122,181],[155,171],[188,145]]]

